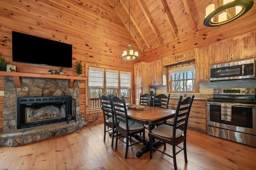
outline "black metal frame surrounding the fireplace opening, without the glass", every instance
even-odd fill
[[[37,104],[56,104],[56,103],[66,103],[66,117],[60,119],[52,119],[40,122],[33,123],[22,123],[22,115],[18,114],[22,111],[22,105],[37,105]],[[72,98],[72,96],[47,96],[47,97],[18,97],[17,98],[17,128],[30,128],[30,127],[38,127],[42,125],[48,125],[53,123],[60,123],[66,121],[76,121],[76,100]],[[71,117],[69,117],[71,115]]]

